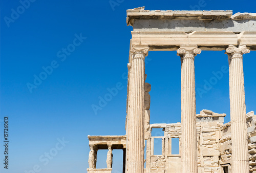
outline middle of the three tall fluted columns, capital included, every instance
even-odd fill
[[[181,45],[181,163],[182,173],[197,172],[196,92],[194,59],[197,45]]]

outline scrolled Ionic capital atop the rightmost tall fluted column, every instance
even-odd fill
[[[239,47],[229,45],[226,49],[225,54],[232,58],[243,58],[243,54],[250,53],[250,50],[246,47],[246,45],[242,45]]]

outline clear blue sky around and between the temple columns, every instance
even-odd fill
[[[113,1],[116,6],[108,0],[0,2],[1,120],[9,118],[8,171],[3,168],[3,121],[0,127],[1,172],[87,172],[87,136],[125,134],[132,31],[125,23],[126,9],[256,13],[254,1]],[[256,111],[255,57],[254,51],[244,55],[247,112]],[[145,66],[146,82],[152,84],[151,123],[180,122],[180,57],[175,51],[150,52]],[[227,67],[224,51],[202,51],[195,59],[197,91],[213,72]],[[95,114],[92,105],[117,86],[118,93]],[[197,113],[226,113],[228,122],[228,73],[206,93],[197,92],[196,103]],[[121,172],[122,152],[115,153],[113,172]],[[100,151],[99,167],[105,167],[104,157]]]

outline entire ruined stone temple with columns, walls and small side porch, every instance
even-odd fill
[[[123,172],[255,173],[256,115],[246,114],[243,54],[256,50],[256,13],[140,7],[127,10],[126,23],[133,27],[126,135],[88,136],[88,172],[111,172],[112,150],[122,149]],[[194,60],[208,50],[225,50],[223,57],[229,61],[231,121],[226,124],[226,114],[209,110],[196,114]],[[149,51],[177,51],[181,58],[181,123],[150,124],[151,85],[145,82]],[[154,128],[161,128],[163,135],[153,136]],[[174,139],[179,141],[178,154],[172,152]],[[155,140],[161,141],[160,155],[154,154]],[[98,149],[108,150],[104,169],[96,168]]]

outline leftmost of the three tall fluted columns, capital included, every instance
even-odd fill
[[[144,76],[148,49],[148,46],[144,45],[135,45],[131,49],[127,172],[144,171]]]

